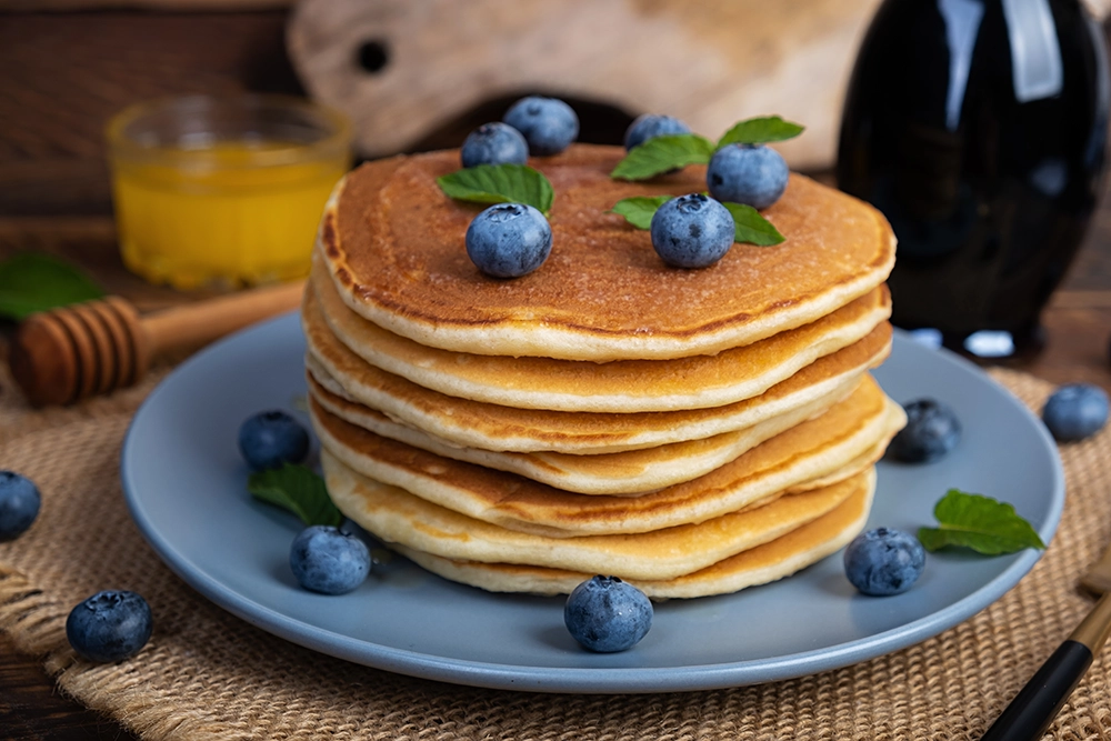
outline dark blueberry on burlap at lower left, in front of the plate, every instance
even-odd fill
[[[97,592],[70,611],[66,638],[89,661],[111,662],[139,653],[153,620],[150,605],[134,592]]]

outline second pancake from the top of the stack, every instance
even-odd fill
[[[644,412],[707,409],[759,395],[867,337],[891,314],[885,286],[827,317],[717,356],[594,363],[424,347],[344,309],[314,260],[311,287],[328,328],[372,366],[451,397],[519,409]]]

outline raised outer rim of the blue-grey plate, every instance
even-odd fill
[[[243,338],[267,331],[284,331],[286,323],[301,332],[297,311],[259,322],[229,334],[203,348],[176,367],[147,395],[132,415],[123,439],[120,454],[120,482],[131,519],[160,560],[182,581],[217,607],[251,625],[312,651],[351,661],[367,667],[401,673],[420,679],[464,684],[470,687],[520,690],[551,693],[642,693],[685,692],[740,687],[781,681],[843,668],[914,645],[932,638],[987,609],[1013,589],[1041,559],[1044,551],[1027,549],[1007,569],[972,593],[945,607],[898,628],[874,633],[834,647],[800,651],[781,657],[733,661],[715,664],[688,664],[682,667],[532,667],[482,662],[469,659],[439,657],[396,647],[356,639],[328,628],[294,620],[284,613],[240,594],[214,577],[194,569],[180,550],[161,533],[143,509],[142,495],[131,480],[129,461],[133,454],[137,429],[159,399],[172,390],[179,379],[226,352],[228,347],[243,342]],[[907,332],[894,331],[894,343],[914,343]],[[921,347],[921,346],[919,346]],[[1057,444],[1033,412],[1002,383],[972,362],[944,349],[921,348],[940,360],[972,372],[995,387],[1015,405],[1041,434],[1049,450],[1053,491],[1045,522],[1039,530],[1042,541],[1050,545],[1064,508],[1064,471]]]

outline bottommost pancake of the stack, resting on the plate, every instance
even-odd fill
[[[863,530],[873,489],[864,488],[833,510],[762,545],[705,569],[667,580],[629,580],[659,599],[728,594],[767,584],[817,563],[847,545]],[[491,592],[569,594],[593,574],[517,563],[459,561],[393,544],[399,553],[446,579]]]

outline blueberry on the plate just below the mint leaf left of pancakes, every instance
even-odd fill
[[[314,524],[293,539],[289,568],[298,583],[310,591],[343,594],[370,573],[370,549],[357,535]]]

